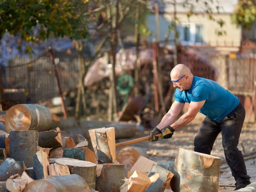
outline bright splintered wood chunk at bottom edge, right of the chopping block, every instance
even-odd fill
[[[124,179],[125,183],[120,187],[120,192],[143,192],[158,178],[158,173],[148,177],[141,172],[135,171],[129,179]]]

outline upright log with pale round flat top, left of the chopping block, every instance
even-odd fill
[[[59,158],[55,160],[55,163],[67,165],[70,174],[81,176],[91,189],[95,189],[96,164],[72,158]]]

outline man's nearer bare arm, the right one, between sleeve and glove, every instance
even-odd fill
[[[199,102],[191,101],[189,103],[188,111],[185,114],[183,114],[175,123],[172,123],[170,126],[174,130],[177,130],[180,127],[187,125],[189,122],[195,119],[196,114],[202,108],[204,103],[205,103],[205,100],[199,101]]]

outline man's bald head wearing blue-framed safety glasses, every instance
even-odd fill
[[[178,88],[180,91],[189,90],[193,81],[193,74],[190,69],[183,64],[176,65],[171,73],[171,80],[173,87]]]

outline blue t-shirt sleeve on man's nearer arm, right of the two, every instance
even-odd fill
[[[209,98],[210,88],[205,84],[198,84],[192,91],[192,102],[200,102]]]

